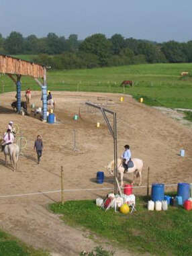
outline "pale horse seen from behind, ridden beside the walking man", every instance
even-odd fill
[[[2,142],[3,139],[1,138],[0,144],[2,144]],[[17,162],[19,160],[19,146],[17,144],[6,145],[3,153],[5,155],[5,166],[7,167],[7,156],[9,156],[13,171],[17,171]]]

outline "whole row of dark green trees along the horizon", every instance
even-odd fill
[[[91,69],[138,63],[192,62],[192,41],[158,43],[124,38],[121,34],[111,38],[93,34],[85,40],[79,40],[77,34],[65,38],[54,33],[43,38],[35,35],[24,38],[19,32],[11,32],[7,38],[0,34],[0,53],[34,54],[34,62],[52,69]]]

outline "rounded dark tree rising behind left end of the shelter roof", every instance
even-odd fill
[[[11,32],[5,40],[5,50],[8,54],[23,53],[23,36],[18,32]]]

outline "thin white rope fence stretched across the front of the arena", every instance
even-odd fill
[[[165,187],[171,187],[176,186],[177,184],[164,184]],[[147,185],[143,186],[133,186],[132,188],[146,188]],[[149,187],[152,187],[152,185],[149,185]],[[114,187],[103,187],[103,188],[85,188],[85,189],[59,189],[59,190],[52,190],[52,191],[43,191],[43,192],[34,192],[34,193],[28,193],[28,194],[15,194],[15,195],[5,195],[0,196],[0,198],[14,198],[19,196],[35,196],[40,194],[51,194],[51,193],[60,193],[60,192],[75,192],[75,191],[99,191],[99,190],[111,190],[114,189]],[[124,187],[121,187],[121,189],[124,189]]]

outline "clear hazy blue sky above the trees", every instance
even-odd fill
[[[0,33],[192,40],[192,0],[0,0]]]

